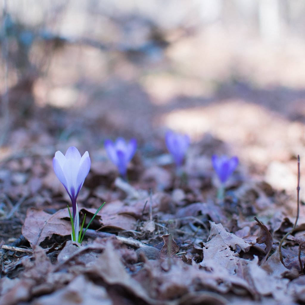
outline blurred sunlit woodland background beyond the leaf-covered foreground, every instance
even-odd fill
[[[173,129],[225,142],[252,178],[295,192],[297,154],[305,173],[304,1],[1,5],[2,156],[60,142],[101,149],[119,135],[157,150]]]

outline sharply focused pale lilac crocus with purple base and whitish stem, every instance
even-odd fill
[[[66,154],[57,151],[53,158],[53,168],[59,181],[63,184],[68,192],[73,210],[75,240],[78,240],[79,215],[76,199],[84,180],[90,170],[90,157],[86,151],[83,156],[76,147],[69,147]]]

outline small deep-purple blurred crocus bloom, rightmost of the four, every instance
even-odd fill
[[[212,164],[219,180],[224,184],[237,167],[238,158],[236,156],[229,158],[228,156],[213,155]]]

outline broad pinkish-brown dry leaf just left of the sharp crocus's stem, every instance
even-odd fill
[[[64,220],[65,217],[69,218],[67,209],[48,214],[42,210],[29,208],[22,226],[22,234],[32,245],[39,245],[52,234],[70,235],[71,223]]]

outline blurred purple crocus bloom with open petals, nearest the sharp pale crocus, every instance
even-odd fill
[[[123,138],[117,138],[114,143],[111,140],[105,141],[109,159],[117,166],[120,175],[124,178],[126,178],[127,165],[134,156],[136,148],[136,139],[131,139],[128,143]]]

